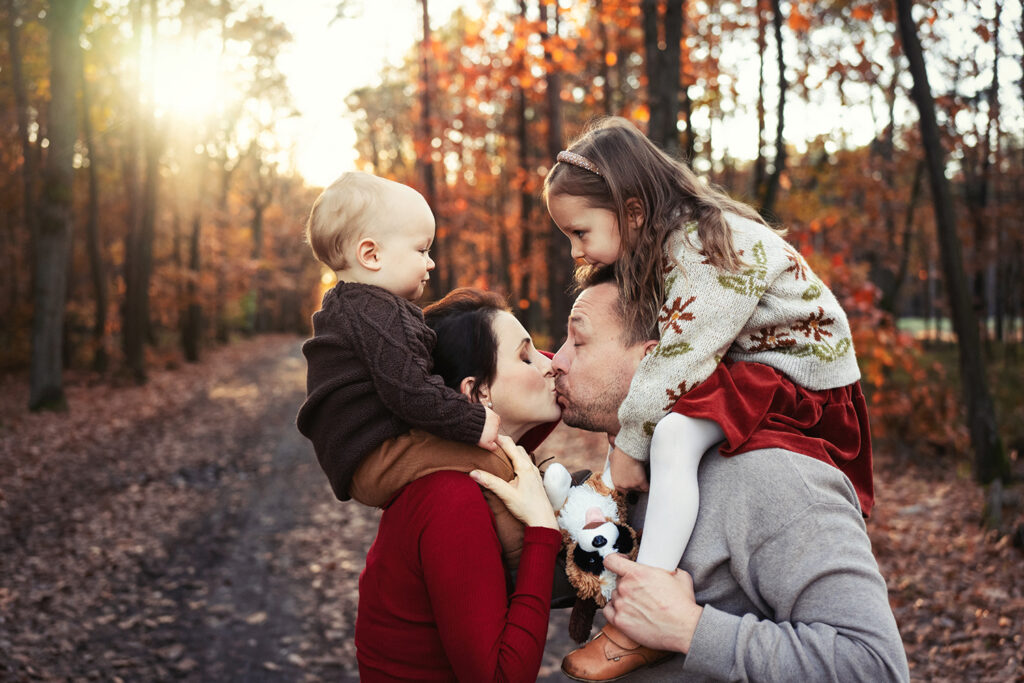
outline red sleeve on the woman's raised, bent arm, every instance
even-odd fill
[[[561,535],[525,529],[509,599],[501,547],[480,489],[458,473],[435,475],[443,490],[420,540],[424,580],[456,676],[465,681],[534,681],[548,631],[551,581]]]

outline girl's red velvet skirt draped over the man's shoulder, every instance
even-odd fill
[[[777,447],[838,467],[863,515],[870,514],[871,432],[860,382],[811,391],[769,366],[726,359],[672,410],[717,422],[725,432],[723,456]]]

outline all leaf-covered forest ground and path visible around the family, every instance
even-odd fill
[[[336,501],[295,429],[299,346],[245,340],[141,387],[73,375],[65,414],[26,413],[25,378],[0,377],[0,680],[357,680],[379,513]],[[603,453],[560,427],[539,456]],[[1019,486],[1012,532],[986,532],[955,464],[877,455],[867,528],[912,678],[1024,680]],[[541,680],[562,680],[567,617]]]

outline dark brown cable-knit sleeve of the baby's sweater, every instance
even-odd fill
[[[349,341],[384,405],[406,424],[441,438],[475,443],[485,412],[432,375],[433,332],[412,304],[383,290],[341,298]]]

